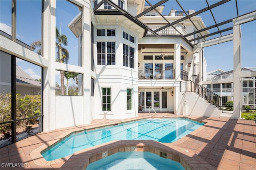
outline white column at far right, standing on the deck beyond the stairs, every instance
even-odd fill
[[[240,118],[240,23],[233,20],[233,44],[234,44],[234,119]]]

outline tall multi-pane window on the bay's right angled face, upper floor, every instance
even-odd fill
[[[134,48],[123,45],[123,66],[134,68]]]

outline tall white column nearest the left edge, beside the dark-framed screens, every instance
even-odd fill
[[[42,55],[49,60],[49,66],[43,68],[43,110],[44,131],[55,129],[55,25],[56,1],[44,1],[42,25]]]

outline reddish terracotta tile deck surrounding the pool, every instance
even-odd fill
[[[171,113],[156,113],[155,116],[188,117],[198,121],[207,122],[204,126],[196,129],[174,143],[159,143],[159,145],[166,148],[189,151],[188,155],[197,154],[201,160],[204,160],[188,160],[187,163],[190,167],[193,167],[192,170],[256,170],[256,121],[183,116]],[[81,169],[81,166],[79,166],[79,156],[83,156],[82,154],[74,154],[73,156],[76,156],[74,161],[72,161],[72,158],[75,157],[72,156],[67,156],[54,161],[45,161],[43,158],[40,158],[40,150],[52,143],[55,143],[70,131],[107,126],[114,123],[132,121],[145,117],[150,116],[148,113],[140,113],[139,117],[132,119],[99,119],[92,121],[90,125],[68,127],[38,133],[37,135],[18,141],[15,144],[1,148],[1,170],[60,169],[61,167],[62,169]],[[128,144],[130,142],[122,141],[123,145],[125,145],[125,143]],[[114,146],[114,144],[110,145]],[[104,147],[106,147],[106,149],[109,148],[109,146]],[[83,160],[83,157],[80,159]],[[13,166],[15,163],[23,163],[23,166],[26,167],[4,167],[3,163],[13,163]],[[212,167],[208,166],[209,164]]]

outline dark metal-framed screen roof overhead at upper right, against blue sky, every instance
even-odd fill
[[[100,10],[98,9],[104,2],[107,2],[111,6],[115,8],[115,10]],[[146,34],[148,31],[152,33],[150,37],[164,37],[163,35],[158,35],[158,31],[165,29],[170,26],[174,26],[177,23],[181,23],[186,20],[193,24],[195,27],[195,31],[192,33],[187,33],[186,35],[182,35],[180,33],[180,37],[184,39],[191,47],[194,47],[198,42],[203,42],[206,40],[222,37],[224,35],[229,35],[233,33],[233,19],[243,16],[245,14],[249,14],[251,12],[256,11],[256,1],[255,0],[145,0],[145,4],[147,8],[140,14],[136,16],[132,16],[128,11],[123,10],[118,5],[116,5],[111,0],[102,0],[96,7],[94,7],[94,14],[112,14],[114,15],[114,11],[118,11],[119,14],[122,14],[133,20],[135,23],[140,25],[145,29],[144,37],[148,37]],[[148,8],[150,6],[150,8]],[[178,17],[176,21],[169,22],[166,19],[166,15],[158,14],[166,21],[166,25],[152,30],[145,23],[139,20],[141,16],[144,16],[148,12],[155,10],[158,6],[165,6],[169,8],[173,8],[175,6],[177,11],[184,12],[185,15],[182,18]],[[178,8],[178,9],[177,9]],[[170,9],[169,9],[170,10]],[[188,15],[188,10],[195,10],[196,12]],[[117,14],[117,13],[116,13]],[[191,20],[194,16],[200,16],[204,21],[205,28],[199,29]],[[173,27],[176,29],[175,27]],[[203,35],[203,31],[208,31],[208,34]],[[194,36],[194,39],[188,39],[189,36]],[[177,36],[176,36],[177,37]]]

